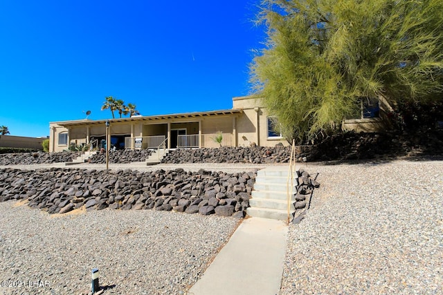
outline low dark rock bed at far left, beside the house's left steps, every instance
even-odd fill
[[[57,153],[5,153],[0,155],[0,165],[51,164],[72,162],[80,155],[78,152],[62,151]]]

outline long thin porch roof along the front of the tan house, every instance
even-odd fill
[[[170,114],[170,115],[152,115],[152,116],[134,116],[134,117],[124,117],[124,118],[116,118],[116,119],[106,119],[106,120],[70,120],[70,121],[60,121],[53,122],[60,126],[64,127],[73,127],[73,126],[84,126],[84,125],[99,125],[105,124],[107,120],[109,123],[116,122],[152,122],[152,121],[160,121],[160,120],[172,120],[172,119],[188,119],[188,118],[198,118],[198,117],[216,117],[221,115],[235,115],[243,113],[242,109],[229,109],[229,110],[219,110],[219,111],[207,111],[207,112],[195,112],[195,113],[178,113],[178,114]]]

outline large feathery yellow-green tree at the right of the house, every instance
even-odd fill
[[[288,140],[313,139],[361,99],[442,97],[442,0],[264,0],[253,90]]]

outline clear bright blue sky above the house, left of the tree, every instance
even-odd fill
[[[109,95],[142,115],[232,108],[265,38],[258,2],[2,0],[0,125],[46,136],[86,111],[110,118]]]

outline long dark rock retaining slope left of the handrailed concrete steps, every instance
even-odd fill
[[[27,200],[48,213],[74,209],[155,209],[244,217],[256,173],[203,169],[139,172],[130,169],[0,169],[0,202]]]

